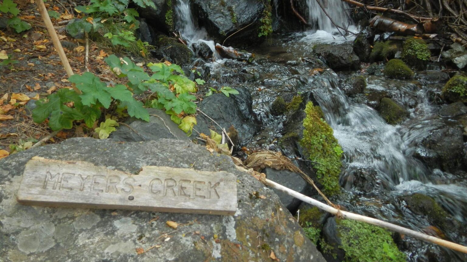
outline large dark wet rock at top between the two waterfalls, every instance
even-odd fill
[[[225,44],[235,47],[251,46],[264,40],[264,37],[258,36],[258,32],[263,25],[260,19],[267,17],[267,6],[270,8],[268,1],[194,0],[193,4],[198,13],[195,17],[198,17],[199,25],[204,26],[217,41],[224,41],[227,36],[247,25],[248,27],[229,37]]]

